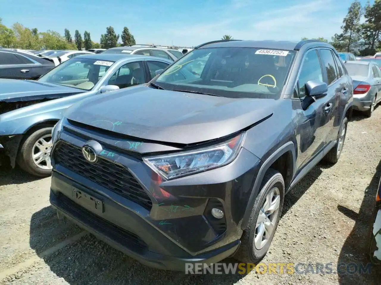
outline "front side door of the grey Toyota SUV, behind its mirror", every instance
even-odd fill
[[[315,101],[307,96],[305,86],[311,80],[323,82],[323,78],[322,65],[317,49],[311,49],[304,56],[294,92],[299,116],[298,171],[319,154],[325,145],[326,134],[321,122],[324,117],[324,108],[327,105],[326,99],[323,97]]]

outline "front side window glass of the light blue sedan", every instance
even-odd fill
[[[120,89],[146,83],[142,62],[129,62],[118,68],[110,77],[107,85],[116,85]]]

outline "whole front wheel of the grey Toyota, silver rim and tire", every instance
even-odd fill
[[[282,214],[285,183],[282,174],[267,170],[261,190],[255,200],[241,245],[234,258],[245,263],[257,263],[269,250]]]

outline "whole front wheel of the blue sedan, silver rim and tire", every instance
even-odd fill
[[[51,130],[51,127],[36,130],[22,142],[16,159],[21,169],[34,176],[51,175]]]

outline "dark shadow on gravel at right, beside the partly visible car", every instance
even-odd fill
[[[338,206],[338,210],[342,212],[347,217],[355,221],[355,225],[344,242],[343,248],[341,249],[338,264],[340,263],[362,263],[366,266],[370,260],[368,258],[368,249],[366,245],[366,239],[368,236],[371,215],[373,212],[373,206],[375,203],[375,197],[378,187],[378,182],[381,176],[381,161],[376,167],[376,173],[373,176],[370,184],[364,191],[364,198],[359,210],[359,213],[352,211],[344,206]],[[348,197],[351,199],[351,197]],[[346,265],[340,267],[341,271],[346,270]],[[353,272],[354,267],[349,268],[349,272]],[[379,268],[371,268],[371,274],[339,274],[339,284],[340,285],[360,285],[360,284],[379,284],[381,280],[381,272]]]

